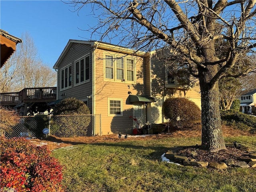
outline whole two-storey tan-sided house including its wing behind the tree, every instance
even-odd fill
[[[185,96],[200,105],[194,90],[174,93],[167,88],[164,65],[152,54],[113,44],[69,40],[58,58],[57,99],[75,97],[84,101],[91,114],[101,114],[101,133],[132,134],[136,116],[143,126],[164,122],[162,102],[169,96]],[[184,95],[183,95],[184,96]]]

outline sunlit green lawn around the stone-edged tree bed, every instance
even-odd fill
[[[254,136],[225,138],[256,150]],[[200,138],[120,140],[80,144],[53,155],[64,165],[66,192],[256,192],[256,168],[210,170],[161,161],[170,147]]]

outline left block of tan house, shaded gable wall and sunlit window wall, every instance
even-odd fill
[[[145,58],[144,52],[134,53],[112,44],[69,40],[54,65],[58,70],[58,99],[78,98],[92,114],[101,114],[102,135],[131,134],[135,124],[130,116],[140,115],[143,125],[145,115],[150,114],[145,104],[152,101],[136,103],[129,98],[150,96],[144,87]]]

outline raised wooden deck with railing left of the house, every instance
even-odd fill
[[[52,102],[56,100],[57,87],[25,88],[20,92],[0,94],[1,106],[16,106],[22,103]]]

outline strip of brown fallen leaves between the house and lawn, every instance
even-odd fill
[[[252,136],[252,134],[234,129],[230,126],[222,126],[222,132],[224,137],[230,136]],[[146,135],[146,136],[130,136],[128,135],[127,140],[154,140],[160,138],[169,138],[169,137],[201,137],[201,125],[195,124],[194,126],[184,129],[184,130],[171,130],[169,134],[154,134],[154,135]],[[57,138],[50,136],[47,140],[31,140],[34,144],[38,145],[46,145],[49,150],[54,150],[57,148],[62,148],[66,146],[72,146],[76,144],[90,144],[90,143],[98,143],[98,142],[119,142],[123,140],[118,138],[117,134],[104,135],[104,136],[94,136],[94,137],[73,137],[73,138]]]

